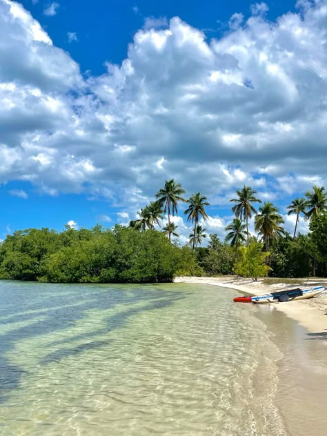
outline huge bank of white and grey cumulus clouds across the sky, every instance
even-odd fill
[[[244,184],[267,201],[326,185],[327,4],[297,5],[271,22],[256,3],[210,41],[179,17],[148,21],[121,65],[83,79],[30,12],[0,0],[0,181],[128,217],[172,177],[225,207]]]

